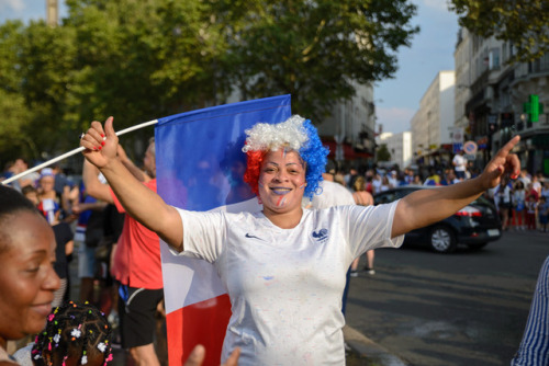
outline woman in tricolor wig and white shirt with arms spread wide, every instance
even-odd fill
[[[407,231],[452,215],[503,175],[520,171],[511,153],[517,136],[475,179],[386,205],[303,209],[304,196],[322,194],[328,153],[312,123],[298,115],[257,123],[246,137],[244,180],[262,205],[258,211],[191,211],[166,204],[116,159],[112,118],[104,127],[93,122],[80,142],[130,215],[175,255],[214,265],[232,310],[221,362],[239,348],[239,365],[345,365],[340,308],[352,260],[400,247]]]

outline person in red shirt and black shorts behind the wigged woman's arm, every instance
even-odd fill
[[[124,167],[130,168],[133,179],[145,190],[156,193],[154,139],[150,140],[143,159],[145,172],[133,165],[125,155],[123,157]],[[82,178],[88,194],[114,204],[120,213],[125,213],[113,190],[98,180],[98,172],[96,167],[85,160]],[[138,180],[135,176],[138,176]],[[149,178],[153,179],[147,181]],[[125,217],[124,228],[116,244],[112,273],[119,282],[122,346],[130,350],[137,366],[159,366],[154,338],[157,307],[164,299],[160,242],[158,235],[130,215]]]

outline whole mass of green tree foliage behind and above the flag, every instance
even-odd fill
[[[67,0],[56,27],[0,25],[0,157],[65,151],[90,121],[139,122],[291,93],[321,122],[350,81],[390,78],[408,0]],[[139,135],[139,133],[134,134]],[[14,152],[15,151],[15,152]]]

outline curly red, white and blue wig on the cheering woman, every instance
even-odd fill
[[[304,195],[310,199],[322,192],[320,182],[324,173],[329,150],[322,145],[316,128],[310,119],[293,115],[278,124],[258,123],[246,129],[246,144],[243,151],[248,157],[244,181],[259,195],[259,174],[265,156],[280,148],[298,151],[305,162],[307,185]]]

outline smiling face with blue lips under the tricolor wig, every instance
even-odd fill
[[[305,186],[305,165],[298,152],[279,149],[267,153],[258,184],[264,210],[289,213],[301,209]]]

